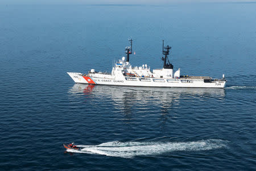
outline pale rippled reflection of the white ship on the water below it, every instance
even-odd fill
[[[101,86],[93,84],[75,84],[69,89],[71,96],[82,96],[92,99],[108,99],[113,101],[115,109],[123,109],[127,119],[134,110],[145,112],[150,106],[157,105],[162,115],[170,114],[172,105],[179,105],[181,99],[219,99],[225,97],[225,89],[218,88],[152,88],[152,87],[125,87]],[[86,99],[89,100],[89,99]],[[150,113],[154,113],[154,108]],[[165,118],[163,118],[165,119]]]

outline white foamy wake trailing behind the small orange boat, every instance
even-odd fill
[[[226,141],[219,139],[196,142],[108,142],[96,146],[83,146],[81,151],[68,149],[68,152],[90,153],[114,157],[132,158],[135,156],[160,155],[172,151],[200,151],[226,147]]]

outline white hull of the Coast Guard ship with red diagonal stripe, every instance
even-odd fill
[[[144,78],[144,77],[129,77],[115,76],[109,74],[93,74],[84,75],[79,72],[67,72],[75,83],[84,84],[102,84],[112,86],[139,86],[139,87],[194,87],[194,88],[224,88],[226,80],[212,80],[205,82],[204,79],[189,79],[189,78]],[[96,74],[94,74],[96,75]],[[117,77],[117,78],[116,78]]]

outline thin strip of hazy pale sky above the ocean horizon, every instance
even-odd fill
[[[0,0],[0,4],[87,4],[87,5],[163,5],[171,3],[193,2],[256,2],[256,0]]]

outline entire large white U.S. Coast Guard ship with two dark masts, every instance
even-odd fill
[[[209,76],[181,76],[180,69],[174,72],[174,66],[170,63],[168,55],[171,46],[164,46],[163,68],[150,70],[150,66],[131,66],[130,55],[133,54],[133,40],[130,46],[126,46],[126,57],[115,62],[112,72],[97,72],[91,69],[87,74],[80,72],[67,72],[76,83],[105,84],[115,86],[142,86],[142,87],[202,87],[224,88],[226,79],[224,74],[221,79],[212,79]]]

